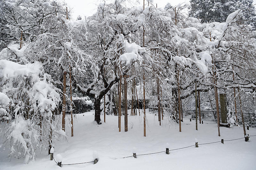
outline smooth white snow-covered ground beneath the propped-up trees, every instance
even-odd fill
[[[148,112],[148,111],[147,111]],[[70,137],[70,128],[66,126],[67,139],[54,144],[54,155],[63,157],[62,164],[73,164],[93,161],[93,152],[98,152],[99,162],[63,165],[61,169],[256,169],[256,137],[250,137],[249,142],[244,139],[225,141],[224,144],[204,144],[198,148],[192,146],[180,150],[118,159],[132,156],[133,152],[139,154],[165,151],[198,144],[210,143],[243,137],[242,127],[220,127],[218,137],[217,124],[198,123],[184,118],[182,132],[179,132],[179,124],[169,121],[164,117],[162,126],[159,126],[158,116],[147,114],[147,137],[143,137],[143,116],[128,116],[128,132],[124,132],[124,116],[122,116],[122,129],[118,132],[118,117],[106,116],[106,123],[97,125],[92,112],[79,114],[75,117],[74,137]],[[130,110],[128,110],[130,113]],[[103,115],[102,115],[103,120]],[[256,135],[256,129],[247,130],[249,135]],[[60,169],[54,160],[50,161],[48,151],[42,151],[37,155],[36,161],[24,164],[24,159],[10,161],[0,149],[1,170],[43,170]]]

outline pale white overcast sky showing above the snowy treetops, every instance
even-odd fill
[[[81,15],[82,18],[84,16],[88,17],[94,14],[97,11],[98,5],[103,2],[103,0],[65,0],[70,8],[73,11],[73,18],[76,19],[78,15]],[[107,3],[114,2],[114,0],[106,0]],[[132,6],[142,6],[143,0],[126,0],[130,2]],[[145,4],[146,4],[145,0]],[[154,0],[154,6],[157,4],[157,8],[164,7],[168,2],[172,5],[178,5],[180,3],[188,3],[189,0]],[[254,4],[256,4],[256,0],[254,0]]]

